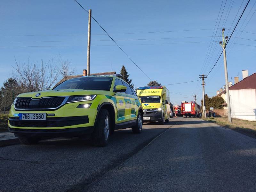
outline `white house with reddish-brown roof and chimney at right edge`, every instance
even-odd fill
[[[246,71],[243,80],[229,87],[231,116],[256,121],[256,73],[248,76]]]

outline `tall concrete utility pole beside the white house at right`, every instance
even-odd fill
[[[227,58],[226,58],[226,43],[228,40],[228,36],[225,37],[224,39],[224,31],[225,29],[222,29],[222,42],[220,41],[220,46],[223,48],[223,57],[224,57],[224,70],[225,70],[225,81],[226,81],[226,95],[227,95],[227,104],[228,104],[228,121],[229,123],[232,123],[232,118],[231,118],[231,107],[230,107],[230,97],[229,97],[229,87],[228,87],[228,67],[227,67]]]

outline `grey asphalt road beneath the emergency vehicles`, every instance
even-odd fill
[[[77,139],[2,147],[0,191],[256,191],[255,165],[256,139],[173,118],[141,134],[118,130],[104,148]]]

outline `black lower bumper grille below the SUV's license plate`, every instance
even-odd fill
[[[9,123],[15,127],[64,127],[89,123],[88,116],[51,117],[46,120],[19,120],[19,117],[10,117]]]

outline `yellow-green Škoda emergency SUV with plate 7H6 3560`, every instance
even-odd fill
[[[9,131],[23,144],[91,136],[96,146],[106,146],[115,129],[140,133],[142,125],[140,99],[118,76],[73,78],[52,90],[22,93],[9,113]]]

